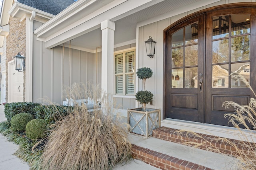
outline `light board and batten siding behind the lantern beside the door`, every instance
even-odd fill
[[[152,105],[147,104],[146,107],[159,109],[163,106],[163,30],[170,25],[170,19],[160,20],[148,25],[144,25],[138,28],[138,46],[136,62],[138,62],[138,68],[150,67],[153,71],[153,76],[146,79],[146,90],[151,91],[154,94]],[[147,56],[146,46],[144,41],[148,40],[151,36],[156,41],[156,49],[154,57],[151,59]],[[136,68],[136,69],[138,69]],[[136,77],[138,81],[138,90],[142,90],[142,80]],[[138,104],[138,107],[141,107]],[[162,109],[161,109],[162,111]]]

